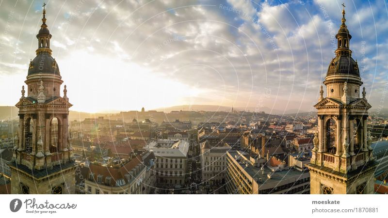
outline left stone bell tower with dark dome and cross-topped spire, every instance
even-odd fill
[[[43,7],[45,7],[44,4]],[[51,34],[43,23],[36,35],[38,49],[30,62],[27,96],[24,86],[16,107],[19,109],[18,139],[11,168],[12,194],[74,194],[75,162],[68,142],[68,109],[72,106],[61,97],[63,83],[59,67],[51,57]]]

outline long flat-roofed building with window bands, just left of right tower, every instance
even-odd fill
[[[285,165],[277,157],[257,158],[241,151],[226,153],[228,194],[309,194],[308,170]]]

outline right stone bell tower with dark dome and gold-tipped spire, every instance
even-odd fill
[[[345,7],[343,5],[343,7]],[[368,104],[357,61],[349,49],[352,36],[345,25],[345,10],[336,35],[336,57],[330,62],[318,109],[318,134],[315,135],[310,170],[311,194],[372,194],[374,171],[370,134],[367,130]]]

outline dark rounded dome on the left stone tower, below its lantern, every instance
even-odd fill
[[[60,76],[57,62],[48,53],[40,53],[32,60],[31,64],[28,69],[29,76],[38,73],[55,74]]]

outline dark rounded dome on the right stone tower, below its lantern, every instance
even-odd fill
[[[358,64],[350,56],[337,56],[333,59],[332,62],[330,62],[326,76],[335,74],[350,74],[358,77],[360,76]]]

